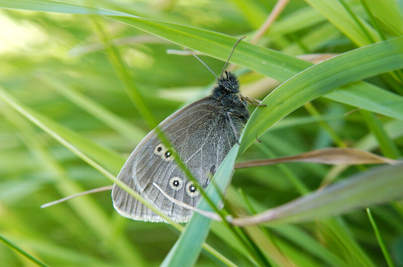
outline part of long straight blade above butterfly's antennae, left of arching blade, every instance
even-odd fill
[[[34,4],[24,0],[21,0],[21,3],[25,3],[24,5],[18,3],[20,3],[20,1],[14,3],[14,1],[3,0],[0,1],[0,8],[88,15],[94,14],[96,10],[99,10],[101,15],[107,16],[102,13],[104,12],[103,10],[87,8],[75,4],[69,4],[71,8],[68,9],[64,6],[68,5],[66,3],[60,4],[59,6],[58,2],[45,0],[35,0]],[[136,16],[119,17],[117,14],[108,16],[181,46],[189,47],[224,61],[228,59],[228,55],[237,41],[237,38],[228,35],[170,22],[145,19]],[[241,42],[237,46],[237,49],[231,57],[231,62],[256,70],[280,81],[287,80],[311,65],[295,57],[255,46],[247,42]]]

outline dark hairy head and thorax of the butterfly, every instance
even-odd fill
[[[218,79],[211,97],[222,107],[223,113],[230,113],[246,123],[249,118],[248,104],[241,98],[239,80],[235,74],[226,71]]]

